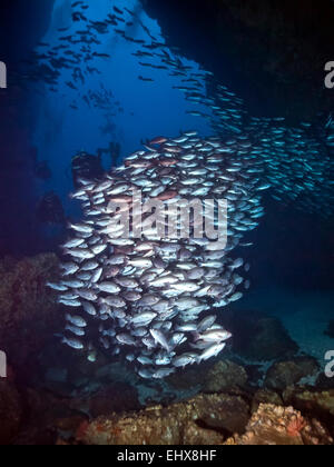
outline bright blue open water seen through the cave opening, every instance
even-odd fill
[[[94,21],[102,21],[110,12],[110,6],[122,3],[97,0],[90,4],[87,17]],[[156,21],[147,17],[141,6],[137,1],[124,2],[128,9],[139,11],[139,19],[149,28],[151,34],[159,41],[165,42],[161,31]],[[130,19],[131,17],[129,17]],[[42,39],[43,42],[55,46],[58,43],[58,28],[70,26],[66,36],[71,34],[78,29],[77,23],[70,19],[69,1],[57,2],[52,13],[51,27]],[[147,33],[140,24],[128,28],[127,33],[134,39],[147,40]],[[70,161],[73,155],[79,150],[96,153],[97,148],[106,148],[110,141],[121,145],[121,155],[128,155],[140,148],[143,139],[151,139],[161,132],[164,135],[178,135],[181,129],[195,129],[202,135],[209,136],[212,129],[205,119],[191,117],[186,110],[194,109],[189,102],[184,99],[184,95],[173,89],[175,86],[181,86],[180,78],[170,77],[168,70],[148,71],[138,66],[138,59],[131,53],[138,50],[137,44],[131,44],[116,33],[101,36],[104,41],[99,47],[99,53],[111,54],[111,60],[95,59],[90,67],[96,67],[101,74],[87,77],[80,93],[85,95],[88,90],[100,91],[102,83],[107,89],[111,89],[115,101],[119,101],[124,112],[117,112],[112,116],[110,111],[89,108],[77,91],[72,91],[66,86],[71,80],[71,73],[62,72],[59,80],[59,92],[52,93],[43,86],[38,83],[38,91],[42,90],[40,98],[39,117],[35,130],[33,142],[38,148],[38,153],[42,159],[47,159],[53,172],[52,188],[61,196],[68,212],[71,212],[71,206],[68,202],[68,193],[72,189],[70,177],[65,178],[69,172]],[[81,44],[72,50],[79,51]],[[76,50],[77,49],[77,50]],[[139,60],[140,61],[140,60]],[[157,59],[143,59],[154,64],[160,64]],[[194,72],[199,72],[199,66],[183,59],[185,66],[193,68]],[[149,77],[155,82],[141,82],[138,74]],[[205,83],[204,83],[205,87]],[[32,101],[36,96],[32,95]],[[69,106],[76,101],[78,110],[72,110]],[[205,107],[199,110],[207,110]],[[106,117],[108,116],[108,117]],[[110,135],[104,135],[101,127],[108,122],[112,123]],[[45,186],[41,186],[41,190]]]

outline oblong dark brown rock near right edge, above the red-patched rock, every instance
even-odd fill
[[[303,378],[315,377],[318,370],[320,366],[313,358],[303,357],[291,361],[281,361],[268,369],[265,386],[283,391],[288,386],[297,385]]]

